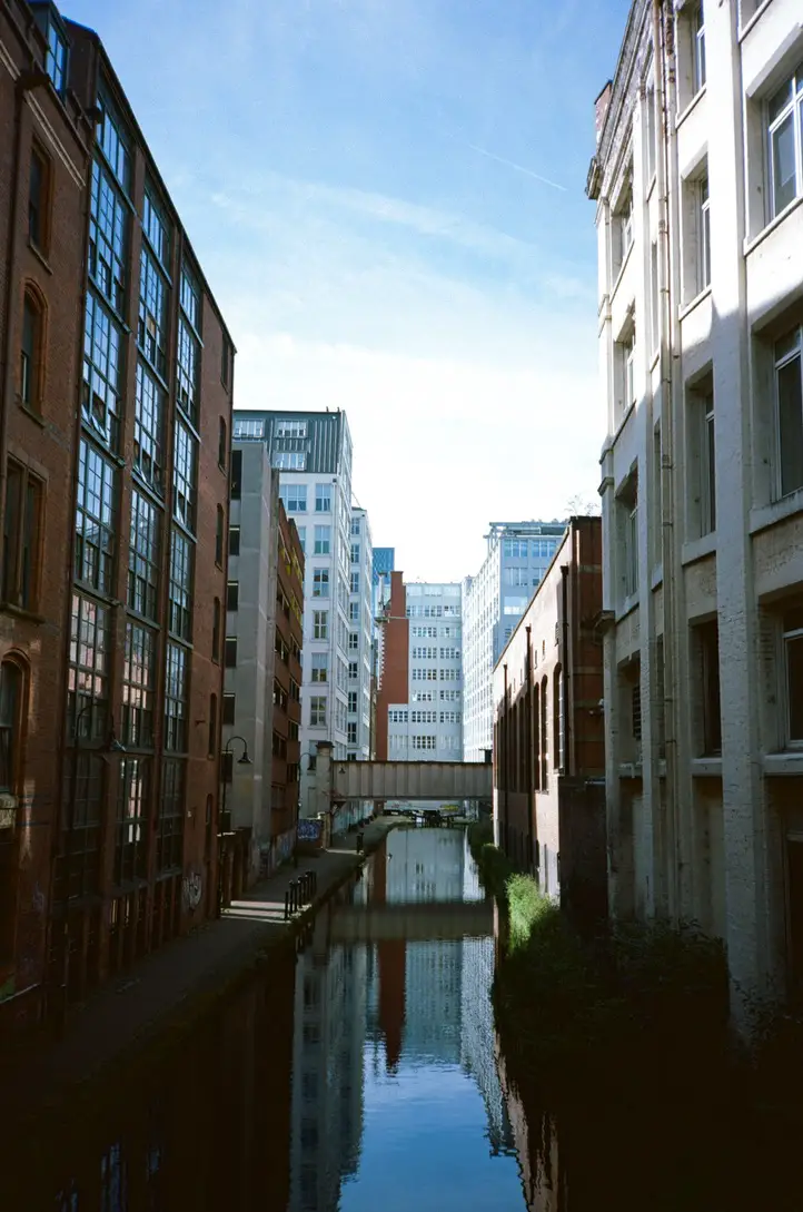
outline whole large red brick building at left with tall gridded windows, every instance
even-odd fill
[[[216,903],[234,348],[97,35],[0,19],[1,1021]]]

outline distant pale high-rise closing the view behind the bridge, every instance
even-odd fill
[[[388,759],[461,761],[461,589],[459,584],[421,583],[405,583],[405,589],[409,619],[407,702],[388,707]]]

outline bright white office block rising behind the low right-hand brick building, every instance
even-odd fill
[[[493,668],[544,579],[564,528],[563,522],[492,522],[482,567],[463,583],[465,761],[483,761],[493,744]]]

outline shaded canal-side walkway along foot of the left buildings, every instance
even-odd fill
[[[365,830],[363,850],[371,853],[400,824],[378,817]],[[136,1063],[145,1045],[170,1046],[199,1022],[257,966],[270,948],[287,942],[299,921],[311,915],[362,862],[356,833],[335,837],[328,850],[299,857],[249,888],[220,919],[145,956],[124,974],[108,981],[70,1013],[64,1037],[24,1058],[22,1071],[0,1073],[13,1086],[19,1113],[57,1109],[76,1086],[99,1079],[117,1063]],[[285,892],[305,870],[317,875],[311,907],[293,921],[285,920]],[[22,1058],[21,1058],[22,1059]]]

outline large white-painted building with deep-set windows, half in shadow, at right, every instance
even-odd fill
[[[631,6],[597,101],[609,892],[803,976],[803,11]]]

